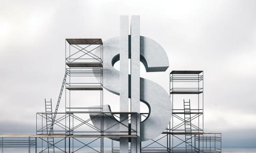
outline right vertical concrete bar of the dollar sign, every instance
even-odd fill
[[[131,152],[140,152],[140,16],[131,17],[131,127],[137,130],[137,138],[131,139]]]

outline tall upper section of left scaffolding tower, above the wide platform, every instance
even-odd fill
[[[66,39],[66,112],[102,111],[102,46],[101,39]],[[88,95],[82,99],[92,94],[99,99],[75,99],[75,96],[82,94]],[[95,104],[97,107],[91,107],[95,101],[98,101]]]

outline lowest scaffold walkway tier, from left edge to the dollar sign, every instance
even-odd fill
[[[135,138],[137,135],[118,135],[118,134],[104,134],[104,135],[62,135],[62,134],[42,134],[42,135],[0,135],[0,149],[1,153],[10,148],[25,148],[28,152],[84,152],[83,149],[92,149],[93,152],[103,152],[103,138]],[[54,138],[53,144],[47,145],[47,138]],[[87,138],[87,139],[84,139]],[[87,140],[87,141],[84,141]],[[100,142],[101,145],[98,150],[90,146],[94,142]],[[81,146],[77,148],[77,144]],[[49,150],[54,146],[54,150]]]

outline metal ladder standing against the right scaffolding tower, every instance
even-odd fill
[[[186,152],[192,152],[192,135],[191,135],[191,111],[190,111],[190,99],[184,102],[184,124],[185,124],[185,146]]]

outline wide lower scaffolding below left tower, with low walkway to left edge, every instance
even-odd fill
[[[127,114],[127,118],[121,120],[120,114]],[[47,129],[47,115],[49,112],[37,113],[35,135],[0,135],[2,152],[4,152],[4,148],[10,147],[26,147],[28,152],[33,148],[35,152],[84,152],[86,149],[103,152],[104,138],[138,137],[137,129],[133,129],[130,125],[126,125],[127,130],[120,131],[120,124],[124,124],[124,120],[132,118],[132,116],[136,116],[136,112],[56,113],[51,134]],[[137,119],[137,117],[134,118]],[[49,138],[54,138],[54,141],[49,142]],[[95,146],[99,147],[95,148]]]

